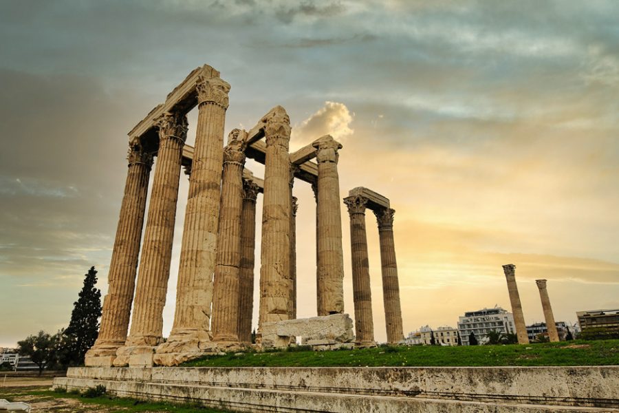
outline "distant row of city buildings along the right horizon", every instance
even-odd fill
[[[556,321],[559,339],[576,339],[583,329],[598,328],[603,330],[619,329],[619,309],[577,311],[574,324],[566,321]],[[545,341],[548,337],[546,323],[534,323],[527,328],[529,341]],[[404,343],[409,346],[469,346],[469,339],[475,337],[477,343],[487,343],[492,334],[515,335],[514,315],[508,310],[495,306],[481,310],[467,311],[459,316],[457,327],[422,326],[409,332]]]

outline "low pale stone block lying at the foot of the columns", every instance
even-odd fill
[[[301,337],[301,343],[317,350],[350,347],[354,340],[353,322],[347,314],[333,314],[307,319],[264,323],[263,348],[281,348],[290,344],[290,337]],[[348,344],[348,346],[345,346]]]

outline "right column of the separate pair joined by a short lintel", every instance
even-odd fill
[[[384,319],[387,324],[387,343],[398,343],[404,339],[398,264],[395,262],[395,243],[393,242],[394,213],[395,210],[389,208],[374,211],[378,221],[378,237],[380,239],[382,299],[384,301]]]

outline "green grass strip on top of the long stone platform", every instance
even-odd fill
[[[526,346],[381,346],[359,350],[248,352],[207,356],[185,367],[619,366],[619,340]]]

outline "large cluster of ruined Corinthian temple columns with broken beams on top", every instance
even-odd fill
[[[229,91],[217,70],[197,67],[129,132],[129,167],[109,290],[98,339],[86,355],[87,366],[173,366],[208,352],[248,348],[256,266],[260,270],[257,348],[288,346],[295,337],[320,349],[375,345],[366,209],[376,215],[380,234],[387,340],[403,339],[394,210],[389,200],[362,187],[352,189],[344,200],[351,225],[354,335],[344,313],[338,179],[342,145],[327,135],[290,153],[290,118],[281,106],[270,109],[250,131],[232,130],[224,145]],[[186,114],[196,106],[195,147],[190,147],[185,145]],[[265,165],[262,179],[244,167],[246,158]],[[189,193],[173,328],[164,341],[162,313],[182,169],[189,176]],[[317,317],[310,319],[296,319],[295,180],[311,184],[316,198]],[[262,244],[259,262],[254,263],[259,193]]]

